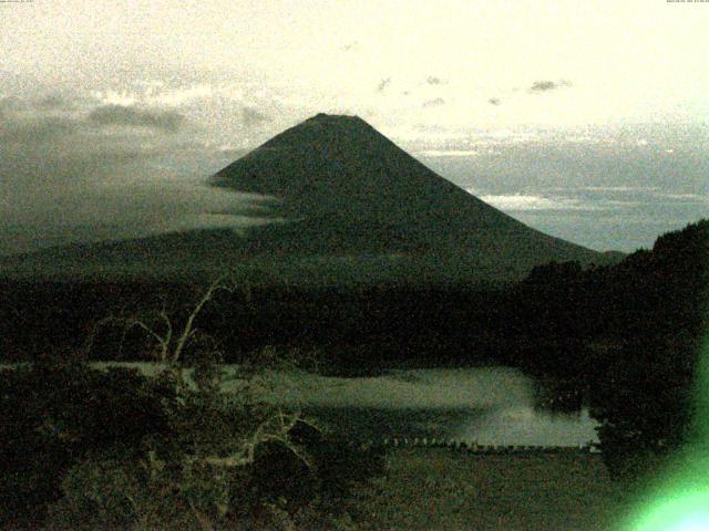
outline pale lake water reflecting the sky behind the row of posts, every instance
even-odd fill
[[[597,441],[586,409],[535,408],[531,378],[506,367],[397,371],[335,378],[279,375],[278,402],[294,405],[352,439],[444,437],[491,445]]]

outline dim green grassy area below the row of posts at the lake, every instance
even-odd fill
[[[612,531],[627,499],[593,455],[405,449],[388,467],[360,500],[364,529]]]

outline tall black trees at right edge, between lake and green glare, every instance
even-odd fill
[[[606,271],[604,284],[617,347],[587,374],[592,415],[612,475],[637,477],[691,442],[709,324],[709,220],[661,236]]]

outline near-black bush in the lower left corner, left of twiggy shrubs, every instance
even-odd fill
[[[169,389],[135,371],[48,360],[0,371],[0,524],[37,523],[93,451],[134,454],[167,434]]]

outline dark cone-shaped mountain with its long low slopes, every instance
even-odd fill
[[[3,269],[161,277],[234,264],[289,282],[467,282],[515,280],[554,260],[613,260],[491,207],[358,116],[318,114],[209,183],[274,196],[273,215],[289,222],[253,227],[245,237],[201,230],[71,246],[4,260]]]

